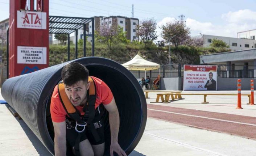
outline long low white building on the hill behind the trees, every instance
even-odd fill
[[[222,37],[214,35],[203,35],[204,44],[203,47],[209,47],[212,43],[212,39],[219,39],[227,43],[232,51],[255,49],[255,39],[245,38],[233,38],[233,37]]]

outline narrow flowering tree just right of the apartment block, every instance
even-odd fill
[[[144,43],[145,47],[150,46],[155,39],[156,35],[156,21],[154,18],[142,21],[136,26],[136,35]]]

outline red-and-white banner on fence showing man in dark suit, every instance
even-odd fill
[[[217,66],[184,65],[183,90],[216,90]]]

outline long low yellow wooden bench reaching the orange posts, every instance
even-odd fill
[[[207,94],[207,93],[168,93],[169,95],[172,96],[172,100],[174,100],[173,96],[179,96],[179,95],[203,95],[203,102],[202,104],[208,104],[209,102],[206,101],[206,97],[208,95],[219,95],[219,96],[237,96],[238,94],[220,94],[220,93],[216,93],[216,94]],[[248,104],[251,103],[251,94],[241,94],[241,96],[248,96],[249,98],[249,102]],[[165,97],[165,101],[164,102],[168,102],[169,103],[169,98]]]

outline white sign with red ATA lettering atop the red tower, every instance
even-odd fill
[[[46,29],[46,12],[17,11],[17,28]]]

